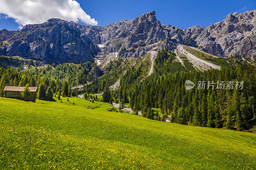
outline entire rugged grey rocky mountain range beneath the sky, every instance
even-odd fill
[[[239,54],[252,58],[256,46],[256,10],[230,13],[221,22],[204,28],[165,26],[155,11],[107,26],[83,26],[58,18],[24,26],[20,31],[0,30],[0,55],[34,58],[43,62],[80,63],[103,60],[113,53],[139,57],[179,44],[211,55]],[[113,57],[113,56],[112,56]],[[102,63],[101,63],[102,64]]]

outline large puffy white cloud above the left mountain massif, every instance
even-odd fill
[[[19,28],[26,24],[43,23],[49,18],[98,24],[75,0],[1,0],[0,13],[13,18],[20,25]]]

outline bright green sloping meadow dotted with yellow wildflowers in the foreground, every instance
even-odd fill
[[[158,122],[106,111],[108,103],[69,100],[0,98],[0,169],[256,167],[254,133]]]

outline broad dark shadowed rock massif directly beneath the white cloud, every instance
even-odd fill
[[[85,33],[86,28],[74,22],[49,19],[43,24],[24,26],[0,47],[0,54],[31,57],[44,61],[94,61],[99,47]]]

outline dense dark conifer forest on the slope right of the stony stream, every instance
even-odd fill
[[[167,53],[170,55],[166,58]],[[154,70],[157,72],[174,57],[171,51],[158,52]],[[120,79],[120,87],[107,101],[129,103],[134,113],[141,111],[142,116],[150,119],[158,119],[152,108],[159,108],[162,117],[171,122],[195,126],[242,130],[249,129],[255,120],[256,67],[250,63],[220,70],[152,75],[142,82],[136,79],[139,74],[140,67],[127,70]],[[186,90],[186,80],[194,82],[195,88]],[[205,88],[197,88],[200,81],[205,81]],[[221,88],[218,81],[223,81]],[[209,89],[208,82],[214,83]],[[104,91],[105,84],[104,80],[94,81],[85,91]]]

